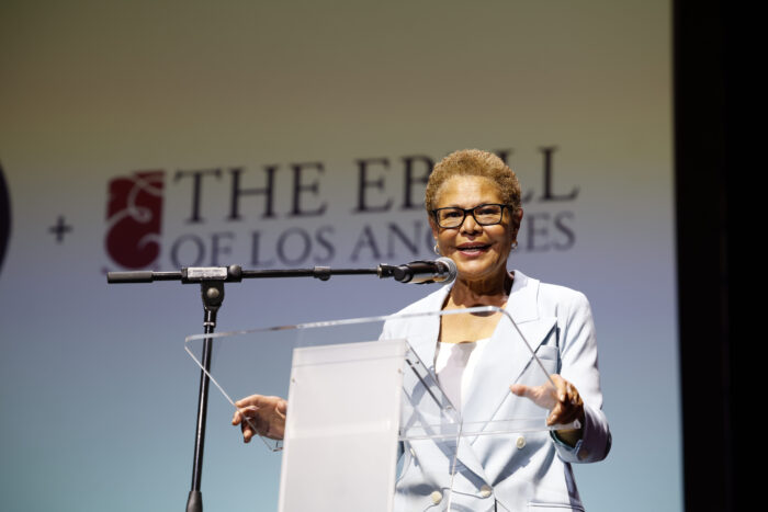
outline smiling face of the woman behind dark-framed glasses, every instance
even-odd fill
[[[482,204],[504,203],[498,186],[487,178],[459,175],[445,181],[438,193],[437,207],[458,206],[474,208]],[[507,275],[507,258],[517,239],[522,211],[517,218],[504,208],[501,223],[481,226],[471,214],[458,228],[441,228],[430,217],[432,235],[440,253],[452,259],[459,270],[459,280],[466,283],[498,281]]]

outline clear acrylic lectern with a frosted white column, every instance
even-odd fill
[[[471,365],[468,396],[452,395],[460,403],[434,376],[445,315],[499,317]],[[495,307],[271,327],[207,335],[208,375],[233,412],[252,394],[287,397],[284,444],[262,437],[270,450],[284,448],[280,512],[398,510],[404,492],[421,491],[398,488],[407,458],[398,455],[429,447],[443,457],[429,465],[430,486],[450,510],[462,439],[566,426],[546,425],[556,335],[554,319],[518,326]],[[205,338],[185,342],[197,364]],[[539,403],[512,395],[516,383],[537,390]]]

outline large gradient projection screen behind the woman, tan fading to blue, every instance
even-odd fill
[[[509,150],[523,189],[521,247],[510,268],[580,289],[600,344],[609,458],[575,468],[590,511],[681,510],[674,269],[668,1],[566,2],[88,1],[0,5],[0,162],[12,234],[0,269],[0,508],[179,509],[189,490],[197,372],[182,350],[200,330],[194,287],[106,286],[108,183],[163,170],[161,254],[180,237],[227,232],[221,263],[274,258],[290,229],[313,246],[302,265],[416,259],[387,247],[403,211],[404,157]],[[556,146],[554,192],[541,201],[542,147]],[[355,160],[387,158],[370,203],[353,213]],[[295,162],[318,192],[290,217]],[[228,221],[228,169],[244,186],[278,164],[274,219],[242,198]],[[191,180],[201,224],[188,224]],[[419,172],[421,168],[419,168]],[[422,190],[416,186],[415,196]],[[47,231],[64,215],[61,243]],[[573,234],[573,240],[555,223]],[[415,225],[414,223],[420,223]],[[351,254],[370,226],[370,244]],[[300,239],[292,239],[298,243]],[[429,258],[426,241],[419,257]],[[285,246],[297,258],[301,246]],[[180,254],[184,254],[183,252]],[[191,257],[183,264],[189,264]],[[275,266],[283,266],[275,261]],[[430,288],[431,289],[431,288]],[[419,287],[334,278],[227,288],[219,329],[391,312]],[[208,510],[270,510],[279,459],[239,445],[228,410],[211,405],[203,493]],[[259,468],[263,465],[263,468]]]

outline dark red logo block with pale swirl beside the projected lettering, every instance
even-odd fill
[[[126,269],[151,265],[160,255],[162,171],[138,171],[110,181],[106,252]]]

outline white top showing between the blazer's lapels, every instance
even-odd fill
[[[475,373],[477,362],[490,338],[463,343],[438,342],[434,351],[434,373],[451,403],[461,412]]]

